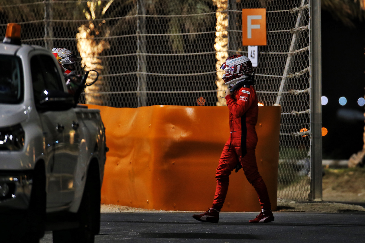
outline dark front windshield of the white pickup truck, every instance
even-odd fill
[[[23,100],[22,74],[20,58],[0,55],[0,103],[19,104]]]

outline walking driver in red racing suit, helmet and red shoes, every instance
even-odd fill
[[[226,71],[223,80],[232,85],[226,91],[227,106],[230,111],[230,138],[224,145],[216,169],[216,190],[212,207],[205,213],[193,215],[199,221],[218,223],[219,212],[227,195],[229,175],[242,167],[247,181],[255,188],[261,205],[261,213],[249,223],[267,223],[274,220],[271,204],[264,180],[257,169],[255,148],[257,134],[258,107],[254,89],[254,73],[251,61],[243,55],[233,55],[223,63]]]

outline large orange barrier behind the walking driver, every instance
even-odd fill
[[[205,211],[215,192],[215,169],[229,136],[227,107],[154,105],[100,109],[107,161],[101,202],[130,207]],[[259,107],[258,169],[277,204],[280,106]],[[232,173],[222,211],[259,211],[243,171]]]

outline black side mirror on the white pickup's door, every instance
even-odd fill
[[[74,107],[74,98],[61,90],[43,90],[36,106],[39,111],[66,111]]]

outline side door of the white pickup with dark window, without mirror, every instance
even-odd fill
[[[64,91],[53,57],[31,58],[34,100],[40,102],[42,92]],[[65,207],[74,197],[74,170],[80,145],[78,119],[74,109],[39,111],[46,148],[47,208]]]

